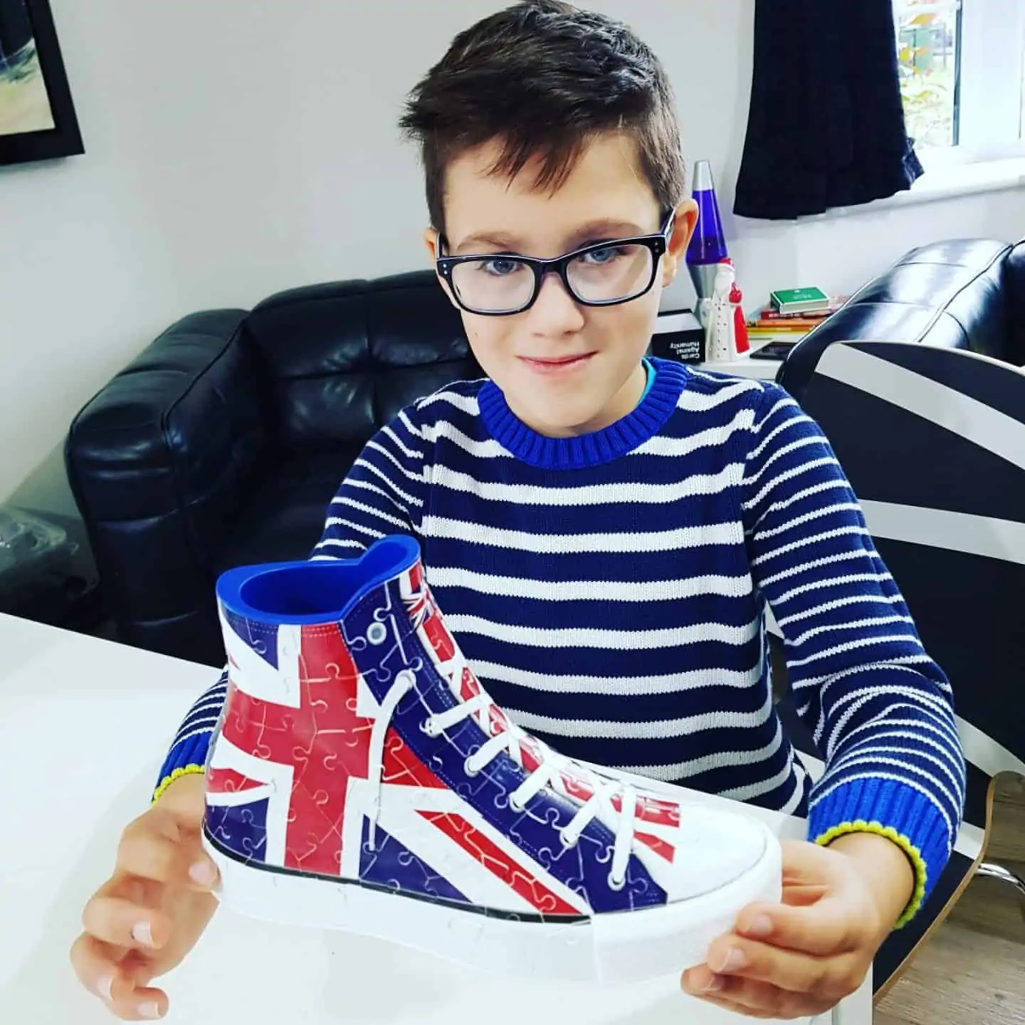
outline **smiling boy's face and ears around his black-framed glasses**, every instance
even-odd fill
[[[489,142],[449,165],[445,255],[562,256],[662,228],[629,135],[596,137],[556,193],[535,190],[537,161],[511,181],[489,174],[499,150]],[[478,363],[524,423],[550,437],[570,437],[600,430],[633,410],[644,392],[641,360],[662,288],[676,275],[696,219],[692,201],[678,208],[651,291],[620,305],[581,305],[551,274],[523,313],[485,317],[460,308]],[[434,258],[437,233],[428,231],[425,241]]]

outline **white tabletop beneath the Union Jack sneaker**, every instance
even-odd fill
[[[68,952],[149,802],[180,717],[216,670],[0,615],[0,1022],[109,1025]],[[805,824],[757,813],[781,835]],[[685,966],[681,966],[683,969]],[[720,1025],[750,1019],[675,977],[597,989],[473,975],[382,942],[219,909],[157,983],[189,1025]],[[816,1025],[870,1025],[866,985]]]

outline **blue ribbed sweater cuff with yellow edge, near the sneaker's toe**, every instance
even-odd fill
[[[821,785],[828,787],[828,779]],[[856,779],[812,798],[808,838],[826,845],[850,832],[874,832],[897,844],[914,869],[914,893],[897,920],[900,929],[917,913],[950,858],[946,820],[926,794],[896,780]]]

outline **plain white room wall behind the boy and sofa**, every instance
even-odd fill
[[[200,308],[423,265],[403,96],[501,0],[52,0],[87,155],[0,169],[0,500],[74,509],[80,406]],[[1022,190],[797,224],[730,214],[753,0],[592,0],[665,61],[747,299],[855,288],[913,245],[1025,234]],[[689,303],[686,276],[666,297]]]

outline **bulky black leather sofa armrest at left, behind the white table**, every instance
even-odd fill
[[[65,462],[122,640],[210,632],[214,552],[269,447],[241,310],[168,328],[75,417]],[[160,638],[161,640],[156,640]],[[205,639],[218,657],[219,638]]]

